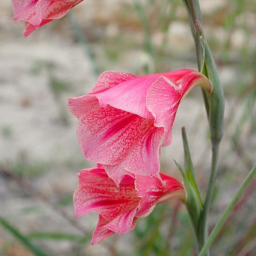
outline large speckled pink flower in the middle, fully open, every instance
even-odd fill
[[[141,77],[102,73],[90,93],[68,100],[79,119],[85,158],[103,164],[117,185],[129,173],[156,175],[161,145],[172,141],[179,103],[197,85],[211,91],[209,80],[190,69]]]

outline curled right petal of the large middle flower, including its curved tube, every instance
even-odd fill
[[[172,141],[172,126],[180,101],[195,86],[211,91],[211,83],[201,73],[191,69],[181,69],[163,73],[150,87],[146,105],[155,117],[154,125],[164,127],[165,138],[162,146]]]

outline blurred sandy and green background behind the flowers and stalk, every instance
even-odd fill
[[[256,162],[256,2],[201,0],[206,38],[226,97],[225,135],[209,219],[213,228]],[[74,218],[72,195],[85,161],[67,99],[104,70],[138,75],[197,69],[182,1],[86,0],[22,36],[11,1],[0,3],[0,255],[196,255],[186,209],[157,205],[134,231],[91,246],[97,214]],[[205,194],[211,151],[200,89],[182,101],[162,172],[181,180],[187,130]],[[212,246],[212,255],[256,255],[255,179]]]

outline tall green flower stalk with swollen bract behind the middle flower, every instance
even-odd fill
[[[208,77],[212,83],[212,91],[210,95],[207,95],[203,90],[203,98],[211,134],[212,163],[203,210],[201,211],[199,218],[198,243],[199,247],[202,249],[205,239],[207,238],[207,215],[209,214],[213,189],[218,172],[219,146],[223,135],[224,95],[217,67],[203,33],[199,2],[198,0],[183,0],[183,3],[188,12],[190,28],[195,41],[198,69]],[[210,255],[209,252],[208,255]]]

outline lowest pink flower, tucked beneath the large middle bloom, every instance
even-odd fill
[[[74,193],[76,217],[99,213],[92,244],[117,233],[134,229],[137,218],[147,217],[156,204],[170,198],[185,200],[185,190],[178,180],[160,173],[154,177],[125,175],[119,187],[101,165],[78,174]]]

